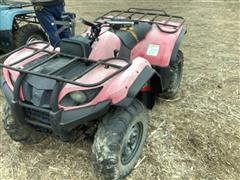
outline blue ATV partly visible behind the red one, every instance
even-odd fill
[[[48,38],[28,2],[0,0],[0,51],[9,52],[34,40]]]

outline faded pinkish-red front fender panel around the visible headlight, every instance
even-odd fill
[[[120,64],[122,63],[122,61],[116,59],[112,60],[111,63]],[[80,78],[78,82],[87,84],[99,82],[103,78],[113,74],[115,71],[115,68],[105,68],[105,66],[98,66],[97,68],[93,69],[92,71],[84,75],[82,78]],[[102,87],[102,90],[91,102],[87,104],[75,107],[62,106],[61,100],[67,94],[73,91],[91,89],[71,84],[66,85],[59,95],[59,108],[64,108],[64,110],[67,111],[85,106],[96,105],[105,100],[111,100],[112,104],[116,105],[124,99],[133,99],[138,94],[140,89],[144,86],[144,84],[151,78],[154,72],[155,71],[151,68],[151,65],[146,59],[138,57],[132,61],[130,67],[128,67],[118,75],[112,77],[105,83],[99,85],[99,87]]]

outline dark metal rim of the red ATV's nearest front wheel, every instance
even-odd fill
[[[126,143],[122,148],[121,161],[123,165],[128,164],[135,157],[142,141],[143,125],[141,122],[131,127]]]

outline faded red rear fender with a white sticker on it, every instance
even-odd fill
[[[186,33],[182,27],[175,33],[160,31],[155,25],[131,51],[131,58],[143,57],[151,65],[168,67],[171,61],[176,60],[177,51]]]

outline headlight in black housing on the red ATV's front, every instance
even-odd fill
[[[74,91],[67,94],[60,102],[63,106],[79,106],[93,100],[102,87],[84,91]]]

